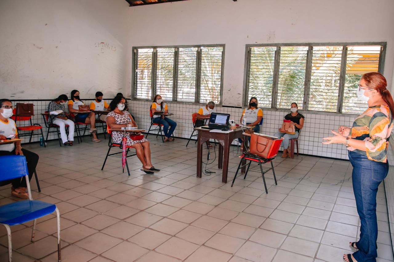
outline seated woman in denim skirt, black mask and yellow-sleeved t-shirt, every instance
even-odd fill
[[[68,107],[69,107],[69,112],[78,112],[79,107],[78,105],[85,105],[84,102],[79,100],[79,91],[78,90],[72,90],[71,91],[71,99],[69,100]],[[75,114],[74,116],[75,122],[81,122],[81,123],[86,123],[90,125],[90,130],[89,133],[93,135],[93,142],[100,142],[100,140],[97,138],[97,129],[95,127],[95,122],[96,122],[96,116],[95,113],[90,112],[90,113],[82,113],[82,114]]]

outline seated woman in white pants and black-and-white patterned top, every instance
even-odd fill
[[[65,106],[63,103],[67,102],[69,98],[65,94],[61,94],[58,98],[51,101],[48,105],[48,112],[53,112],[56,110],[62,110],[65,112]],[[72,146],[74,141],[74,122],[70,120],[65,113],[58,115],[50,114],[48,116],[48,125],[55,124],[59,126],[61,141],[65,146]],[[69,136],[66,134],[65,125],[69,125]]]

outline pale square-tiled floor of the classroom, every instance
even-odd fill
[[[130,177],[122,173],[119,158],[109,158],[100,170],[108,140],[93,143],[85,137],[67,148],[57,141],[46,149],[24,146],[40,156],[42,191],[35,190],[33,198],[56,203],[61,212],[63,262],[338,262],[354,251],[348,242],[358,236],[359,218],[349,162],[279,157],[274,161],[278,185],[267,174],[266,194],[255,172],[230,187],[239,162],[235,151],[229,183],[223,184],[217,161],[208,165],[216,174],[196,178],[194,143],[186,148],[187,140],[163,144],[148,138],[154,166],[162,171],[144,175],[132,157]],[[34,179],[31,184],[36,189]],[[0,195],[0,204],[19,200],[9,187]],[[383,184],[377,203],[377,261],[392,261]],[[56,218],[39,220],[33,244],[31,226],[12,227],[14,261],[57,261]],[[3,228],[0,232],[0,261],[6,261],[7,237]]]

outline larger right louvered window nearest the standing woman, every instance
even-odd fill
[[[362,113],[357,99],[362,74],[383,73],[386,42],[360,44],[247,45],[245,105],[347,114]]]

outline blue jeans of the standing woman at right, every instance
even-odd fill
[[[349,151],[353,166],[352,181],[357,212],[360,216],[360,240],[356,242],[359,250],[353,253],[358,262],[376,261],[377,257],[377,218],[376,193],[379,184],[388,173],[388,162],[369,160],[365,155]]]

